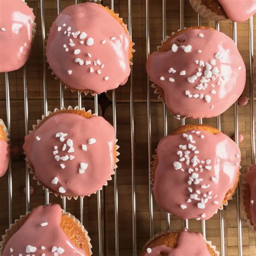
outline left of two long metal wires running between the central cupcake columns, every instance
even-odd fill
[[[132,2],[128,0],[128,30],[132,41]],[[131,60],[132,61],[132,60]],[[133,253],[137,251],[137,221],[136,221],[136,184],[135,184],[135,156],[134,156],[134,111],[133,111],[133,66],[130,75],[130,116],[131,116],[131,164],[132,164],[132,241]],[[117,246],[117,245],[116,245]],[[119,253],[119,252],[118,252]],[[116,255],[117,249],[116,249]]]

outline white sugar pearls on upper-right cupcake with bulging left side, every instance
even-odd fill
[[[199,33],[198,37],[199,40],[201,40],[200,38],[204,38],[204,34]],[[171,50],[173,52],[177,52],[179,49],[181,49],[185,53],[190,53],[192,51],[196,51],[194,48],[196,48],[196,46],[178,46],[174,43]],[[201,53],[202,51],[197,50],[197,52]],[[209,59],[208,62],[205,62],[203,59],[195,59],[194,64],[196,65],[196,69],[193,74],[187,74],[186,70],[176,70],[175,66],[172,66],[168,70],[169,75],[160,76],[159,79],[161,81],[167,80],[170,83],[174,83],[176,82],[176,78],[173,75],[174,73],[177,72],[178,76],[186,76],[188,88],[184,91],[185,96],[189,99],[194,98],[204,100],[205,103],[210,104],[210,109],[213,109],[214,105],[211,104],[212,98],[218,94],[218,90],[224,81],[229,79],[228,76],[222,75],[222,72],[218,69],[217,64],[222,58],[223,54],[218,51],[213,53],[212,58]],[[238,66],[237,69],[241,70],[241,66]],[[197,92],[192,93],[191,89],[193,89],[193,91],[196,90]]]

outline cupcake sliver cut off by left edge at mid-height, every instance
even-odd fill
[[[0,177],[4,176],[8,169],[10,149],[8,145],[8,131],[2,119],[0,119]]]

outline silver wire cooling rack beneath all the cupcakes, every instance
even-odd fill
[[[40,3],[41,8],[41,25],[42,25],[42,45],[43,51],[45,46],[45,15],[44,15],[44,0],[38,1]],[[70,1],[70,4],[78,4],[78,0]],[[99,2],[101,1],[93,1]],[[127,17],[128,17],[128,29],[132,38],[132,0],[127,0]],[[160,0],[159,0],[160,2]],[[58,14],[60,10],[60,3],[61,0],[57,0],[57,11]],[[114,0],[110,2],[110,8],[114,9]],[[164,40],[166,37],[166,0],[162,0],[162,39]],[[104,3],[103,3],[104,4]],[[146,4],[146,56],[149,57],[150,55],[150,0],[145,0]],[[184,24],[184,0],[180,0],[180,29],[183,29]],[[196,25],[196,24],[195,24]],[[198,15],[197,25],[201,25],[201,17]],[[220,23],[215,23],[215,29],[220,30]],[[254,35],[253,35],[253,17],[250,18],[250,28],[249,28],[249,56],[250,56],[250,123],[251,123],[251,159],[252,164],[255,163],[255,134],[254,134],[254,89],[252,83],[253,77],[253,47],[254,47]],[[233,23],[233,41],[237,44],[237,23]],[[26,65],[23,68],[23,86],[24,86],[24,120],[25,120],[25,133],[28,133],[28,83],[27,83],[27,72],[26,72]],[[10,86],[9,86],[9,75],[5,73],[5,89],[6,89],[6,117],[7,117],[7,127],[9,133],[11,133],[11,110],[10,110]],[[45,115],[48,114],[48,95],[47,95],[47,82],[46,82],[46,59],[45,59],[45,52],[43,52],[43,92],[44,92],[44,113]],[[150,226],[150,233],[149,238],[152,237],[154,234],[154,215],[153,215],[153,196],[152,196],[152,187],[150,183],[150,167],[151,167],[151,160],[152,160],[152,139],[151,139],[151,83],[149,77],[147,77],[147,139],[148,139],[148,171],[149,171],[149,226]],[[59,106],[64,106],[64,86],[62,83],[59,84],[59,93],[60,93],[60,102]],[[95,113],[98,114],[98,95],[95,95]],[[133,255],[137,255],[137,234],[138,234],[138,227],[136,223],[136,183],[135,183],[135,160],[134,160],[134,108],[133,108],[133,68],[131,67],[131,76],[130,76],[130,127],[131,127],[131,186],[132,186],[132,248],[133,248]],[[82,96],[78,92],[77,96],[77,104],[79,107],[82,107]],[[113,106],[113,126],[115,131],[117,132],[117,110],[116,110],[116,91],[112,91],[112,106]],[[167,136],[167,110],[165,104],[163,104],[163,116],[164,116],[164,136]],[[202,119],[198,120],[199,124],[203,124],[204,121]],[[181,125],[185,124],[185,119],[181,119]],[[220,116],[217,117],[217,128],[221,130],[221,119]],[[235,134],[235,142],[237,145],[238,142],[238,103],[234,104],[234,134]],[[114,238],[115,238],[115,255],[119,255],[119,225],[118,225],[118,183],[117,183],[117,176],[114,176]],[[29,178],[29,170],[26,167],[25,172],[26,178],[26,211],[30,211],[30,178]],[[9,185],[9,224],[12,223],[12,168],[11,168],[11,159],[9,164],[9,171],[8,171],[8,185]],[[241,228],[241,213],[240,213],[240,183],[237,188],[237,228],[238,228],[238,252],[237,255],[242,255],[242,228]],[[83,223],[83,209],[84,209],[84,199],[82,197],[79,198],[80,200],[80,221]],[[98,212],[98,252],[99,255],[105,255],[104,244],[105,244],[105,237],[103,235],[103,228],[102,228],[102,208],[101,208],[101,198],[100,192],[97,192],[97,212]],[[49,191],[45,190],[45,204],[49,204]],[[62,207],[64,210],[66,209],[66,198],[63,198],[63,205]],[[219,211],[219,228],[220,228],[220,244],[221,244],[221,255],[225,255],[225,228],[224,228],[224,215],[223,210]],[[189,228],[189,221],[184,220],[184,226]],[[166,229],[171,227],[171,219],[170,214],[166,213]],[[205,220],[201,221],[201,232],[204,237],[206,237],[206,223]]]

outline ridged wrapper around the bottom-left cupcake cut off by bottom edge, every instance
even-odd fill
[[[5,230],[5,234],[2,235],[2,241],[0,241],[0,255],[2,255],[2,250],[3,250],[4,242],[5,241],[7,242],[12,237],[12,234],[9,234],[9,232],[11,232],[13,228],[17,228],[17,230],[15,231],[15,232],[17,232],[18,228],[25,223],[28,215],[30,215],[30,214],[31,214],[31,212],[29,212],[26,215],[21,215],[19,219],[15,220],[14,224],[10,225],[10,228]],[[62,214],[63,215],[68,214],[69,219],[72,219],[73,222],[78,224],[78,227],[80,227],[82,229],[83,233],[85,234],[85,238],[87,240],[87,243],[89,245],[90,255],[92,255],[92,251],[91,251],[91,249],[92,249],[91,238],[89,237],[88,231],[85,229],[84,225],[82,223],[80,223],[80,221],[74,215],[72,215],[71,213],[62,210]]]

